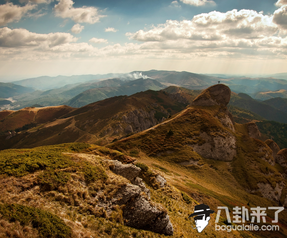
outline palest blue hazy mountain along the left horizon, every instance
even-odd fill
[[[57,77],[41,76],[37,78],[13,81],[12,83],[26,86],[26,87],[34,87],[40,90],[47,90],[47,89],[59,88],[59,87],[65,86],[66,84],[86,82],[89,80],[107,79],[107,78],[112,78],[112,77],[115,78],[120,75],[121,74],[73,75],[73,76],[59,75]]]

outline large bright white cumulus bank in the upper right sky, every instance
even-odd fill
[[[139,30],[130,38],[138,41],[257,39],[271,36],[278,30],[272,19],[273,16],[253,10],[213,11],[196,15],[191,21],[168,20],[150,30]]]

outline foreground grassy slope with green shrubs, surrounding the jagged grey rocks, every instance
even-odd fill
[[[123,207],[115,207],[112,213],[107,214],[96,206],[98,201],[94,199],[95,194],[100,192],[103,194],[102,199],[109,199],[110,194],[129,183],[113,174],[103,159],[125,158],[128,157],[119,152],[81,143],[0,152],[0,190],[3,195],[0,197],[0,211],[4,214],[1,224],[5,225],[4,231],[0,228],[0,235],[12,233],[12,229],[16,228],[24,235],[23,230],[29,230],[29,236],[25,237],[34,238],[39,235],[52,238],[165,237],[124,226]],[[16,160],[23,166],[17,167]],[[9,166],[11,162],[13,165]],[[148,171],[149,174],[156,172],[152,168]],[[199,202],[184,192],[172,185],[160,189],[150,188],[151,200],[160,203],[168,211],[174,229],[172,237],[205,237],[213,234],[223,238],[227,235],[225,232],[214,232],[212,226],[208,226],[202,234],[193,230],[187,217]],[[7,204],[17,207],[14,218],[6,215],[9,212],[5,210]],[[36,216],[33,216],[34,211]],[[31,219],[42,221],[42,216],[45,222],[29,223]],[[211,219],[211,223],[214,223],[215,218]],[[17,221],[21,222],[18,226]],[[54,228],[51,225],[51,230],[48,230],[49,223],[60,226],[56,229],[58,234],[48,234]],[[239,232],[231,234],[232,237],[241,237]]]

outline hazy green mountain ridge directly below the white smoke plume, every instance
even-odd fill
[[[80,93],[76,97],[65,102],[66,105],[72,107],[81,107],[87,104],[104,100],[106,98],[120,96],[120,95],[132,95],[137,92],[151,90],[160,90],[165,86],[154,79],[136,79],[128,82],[123,82],[118,87],[99,87],[89,89]]]

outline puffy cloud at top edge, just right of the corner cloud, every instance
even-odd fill
[[[55,4],[54,11],[57,17],[71,18],[76,23],[89,23],[94,24],[100,21],[104,15],[99,14],[99,10],[96,7],[78,7],[74,8],[72,0],[59,0],[58,4]]]

